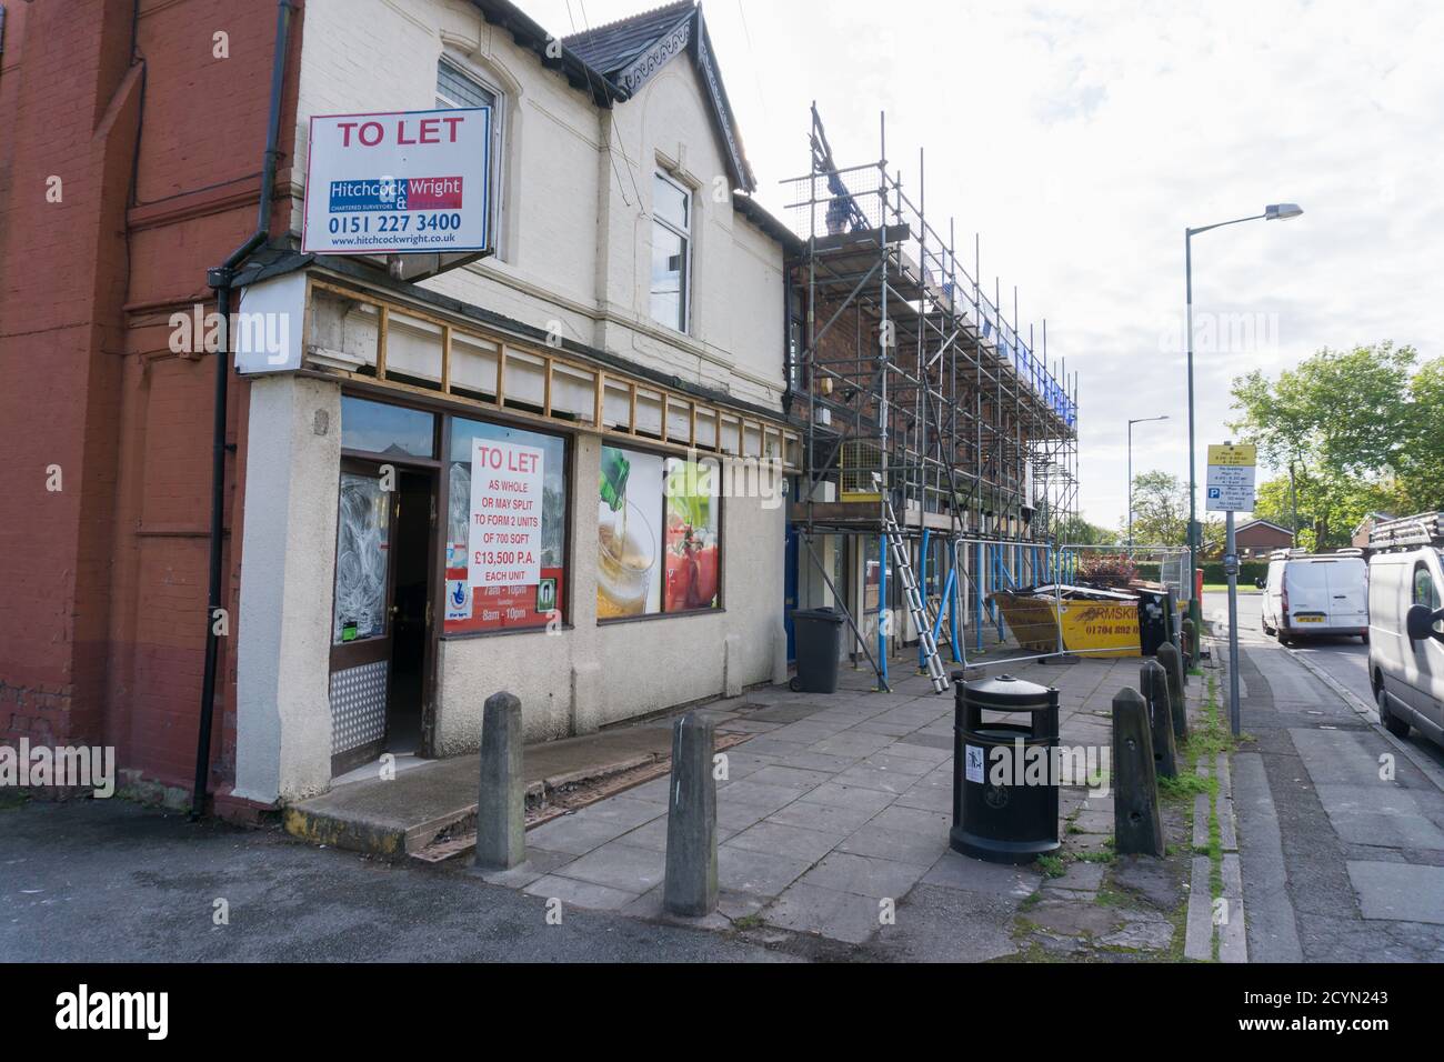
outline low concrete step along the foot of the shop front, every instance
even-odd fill
[[[731,718],[736,702],[713,702],[702,711]],[[645,782],[648,764],[671,756],[671,722],[648,720],[585,737],[530,744],[523,754],[529,803],[583,780],[631,776]],[[377,772],[373,764],[373,772]],[[321,796],[284,811],[286,831],[303,841],[399,860],[438,839],[475,832],[481,756],[423,760],[396,777],[365,769]],[[544,821],[539,819],[537,822]],[[529,825],[536,825],[529,821]]]

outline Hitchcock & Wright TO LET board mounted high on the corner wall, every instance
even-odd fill
[[[491,108],[310,120],[302,250],[491,250]]]

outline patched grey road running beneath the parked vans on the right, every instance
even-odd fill
[[[1226,595],[1204,594],[1203,607],[1226,634]],[[1289,650],[1264,634],[1258,608],[1258,594],[1240,595],[1246,741],[1233,792],[1249,961],[1444,961],[1444,754],[1360,711],[1357,639]]]

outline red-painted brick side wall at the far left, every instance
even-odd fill
[[[7,4],[0,72],[0,741],[104,741],[188,787],[205,646],[211,355],[169,316],[256,225],[273,0]],[[297,9],[277,186],[289,189]],[[212,35],[228,35],[228,58]],[[133,36],[134,35],[134,36]],[[131,48],[134,42],[134,49]],[[143,85],[143,92],[142,92]],[[12,134],[13,133],[13,134]],[[64,202],[46,204],[48,175]],[[282,204],[273,233],[284,236]],[[214,309],[208,305],[206,309]],[[228,441],[245,387],[231,381]],[[244,446],[240,446],[244,449]],[[45,490],[62,467],[64,490]],[[230,526],[241,488],[228,459]],[[240,558],[227,555],[234,617]],[[234,774],[222,642],[217,779]]]

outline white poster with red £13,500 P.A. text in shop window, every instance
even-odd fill
[[[516,442],[474,439],[466,574],[472,587],[542,581],[544,454]]]

